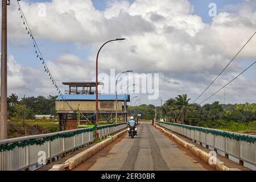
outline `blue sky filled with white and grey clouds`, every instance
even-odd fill
[[[209,3],[216,16],[209,16]],[[42,16],[42,5],[46,14]],[[159,98],[133,94],[142,103],[160,105],[170,97],[197,96],[256,31],[254,0],[30,0],[20,5],[40,51],[61,90],[63,81],[95,81],[99,72],[133,70],[159,73]],[[201,96],[209,97],[256,60],[256,37]],[[8,6],[8,93],[56,95],[20,19],[18,4]],[[256,67],[226,87],[226,103],[256,102]],[[224,90],[207,102],[224,103]]]

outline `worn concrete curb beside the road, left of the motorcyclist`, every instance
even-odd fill
[[[95,144],[94,146],[86,149],[85,151],[80,152],[79,154],[73,156],[72,158],[69,158],[65,161],[64,164],[56,164],[48,171],[64,171],[65,169],[72,170],[75,167],[79,166],[82,162],[84,162],[86,159],[89,159],[91,156],[96,154],[96,152],[100,151],[102,148],[108,146],[110,143],[112,143],[114,140],[116,140],[118,137],[126,133],[127,130],[123,130],[114,136],[103,140],[100,143]]]

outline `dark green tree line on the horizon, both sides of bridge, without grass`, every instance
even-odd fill
[[[26,119],[34,119],[36,114],[55,115],[55,100],[57,96],[38,96],[19,98],[12,93],[8,98],[9,118],[23,118],[23,105],[26,108]],[[218,101],[212,104],[190,104],[187,94],[170,98],[164,102],[162,107],[152,104],[142,104],[139,106],[129,106],[127,114],[136,117],[141,114],[141,119],[157,118],[162,115],[166,121],[178,121],[186,125],[216,127],[214,125],[223,125],[225,122],[248,123],[256,121],[256,104],[228,104],[223,105]]]

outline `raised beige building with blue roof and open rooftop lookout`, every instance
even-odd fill
[[[59,114],[59,130],[72,130],[77,127],[77,114],[75,111],[77,109],[85,115],[93,115],[96,113],[96,82],[63,82],[64,85],[69,86],[69,90],[65,90],[65,95],[63,96],[68,104],[73,108],[72,110],[68,107],[67,103],[63,101],[61,96],[56,98],[56,113]],[[98,84],[102,85],[101,82]],[[117,95],[117,113],[118,115],[126,116],[127,102],[130,101],[129,94],[127,95]],[[98,109],[100,110],[102,119],[115,118],[115,94],[98,94]],[[119,117],[119,119],[124,119],[125,117]],[[127,117],[126,117],[127,118]],[[95,123],[95,115],[90,117],[90,122]],[[80,119],[81,124],[86,121],[86,119]]]

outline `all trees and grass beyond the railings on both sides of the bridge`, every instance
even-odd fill
[[[18,98],[12,93],[8,97],[8,123],[12,129],[10,133],[19,131],[23,135],[51,133],[58,130],[56,120],[35,119],[36,114],[56,115],[55,111],[56,96],[38,96]],[[160,115],[166,118],[167,122],[178,121],[185,125],[209,127],[214,129],[234,131],[239,133],[256,134],[256,104],[228,104],[223,105],[219,102],[205,104],[190,104],[190,98],[187,94],[170,98],[162,107],[154,105],[142,104],[139,106],[129,106],[128,115],[141,114],[141,121],[152,121],[156,115],[160,119]],[[26,105],[26,123],[23,124],[23,105]],[[107,124],[107,121],[101,121]],[[15,129],[17,127],[17,129]],[[23,129],[19,128],[23,127]],[[35,129],[36,130],[35,130]],[[26,131],[27,130],[27,131]]]

